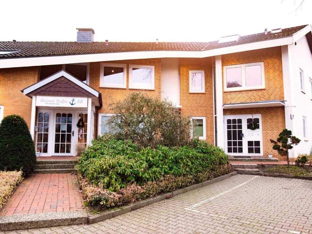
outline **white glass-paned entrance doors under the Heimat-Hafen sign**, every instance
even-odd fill
[[[40,156],[73,156],[76,144],[86,146],[87,112],[38,110],[36,148]],[[78,127],[79,119],[84,122]]]

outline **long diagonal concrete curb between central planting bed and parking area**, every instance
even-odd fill
[[[186,187],[186,188],[177,189],[171,193],[164,193],[164,194],[161,194],[161,195],[158,195],[156,197],[152,197],[152,198],[149,198],[146,200],[130,203],[127,206],[115,208],[115,209],[112,209],[112,210],[109,210],[109,211],[106,211],[106,212],[103,212],[100,214],[90,215],[88,217],[88,223],[95,223],[95,222],[103,221],[105,219],[116,217],[118,215],[130,212],[130,211],[134,211],[136,209],[139,209],[139,208],[142,208],[144,206],[153,204],[155,202],[160,202],[162,200],[174,197],[174,196],[179,195],[181,193],[186,193],[186,192],[189,192],[193,189],[201,188],[203,186],[219,182],[221,180],[227,179],[227,178],[231,177],[232,175],[236,175],[236,174],[237,174],[237,172],[231,172],[231,173],[228,173],[226,175],[219,176],[219,177],[213,178],[211,180],[207,180],[207,181],[202,182],[202,183],[194,184],[194,185],[191,185],[191,186]]]

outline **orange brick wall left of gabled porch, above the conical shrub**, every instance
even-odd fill
[[[21,90],[38,79],[39,67],[0,69],[0,105],[4,105],[4,116],[21,115],[30,127],[32,99],[23,95]]]

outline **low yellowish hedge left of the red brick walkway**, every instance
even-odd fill
[[[0,171],[0,208],[23,180],[22,171]]]

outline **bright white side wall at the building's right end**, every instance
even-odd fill
[[[295,43],[288,46],[290,75],[290,88],[288,90],[291,93],[291,113],[294,115],[292,132],[293,135],[301,139],[301,142],[294,147],[293,154],[290,155],[292,157],[297,157],[298,154],[309,154],[312,146],[312,90],[309,81],[309,77],[312,79],[312,54],[305,36],[296,43],[297,46]],[[300,87],[300,69],[304,73],[304,93],[301,92]],[[285,90],[285,87],[284,91],[286,92],[286,99],[289,96],[289,91]],[[303,116],[307,118],[306,138],[303,136]],[[285,117],[287,126],[289,121],[287,121],[287,115]]]

